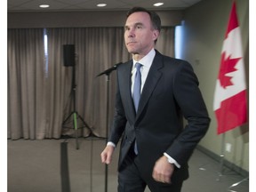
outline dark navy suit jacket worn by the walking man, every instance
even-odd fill
[[[116,84],[116,108],[109,141],[120,147],[120,168],[136,138],[140,169],[152,175],[156,160],[166,152],[180,165],[172,181],[188,178],[188,159],[210,124],[198,81],[185,60],[156,56],[144,84],[137,115],[131,93],[132,60],[119,65]],[[185,127],[182,117],[187,119]]]

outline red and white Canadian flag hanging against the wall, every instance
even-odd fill
[[[228,29],[223,42],[213,110],[218,134],[247,122],[246,84],[240,28],[233,2]]]

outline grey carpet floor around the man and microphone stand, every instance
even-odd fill
[[[100,162],[100,153],[106,141],[97,138],[78,140],[8,140],[7,188],[8,192],[65,192],[61,182],[60,146],[68,144],[68,180],[70,192],[104,192],[106,179],[108,192],[116,192],[116,164],[119,149],[112,164]],[[182,192],[247,192],[249,180],[223,168],[199,150],[189,161],[190,178],[184,182]],[[106,176],[107,175],[107,176]],[[244,180],[239,185],[232,184]],[[146,192],[149,189],[146,188]]]

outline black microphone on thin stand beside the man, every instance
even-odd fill
[[[108,108],[109,108],[109,75],[113,70],[116,70],[118,65],[122,64],[122,62],[117,63],[112,68],[108,68],[107,70],[100,73],[98,76],[106,75],[107,76],[107,105],[106,105],[106,144],[108,143]],[[105,192],[108,192],[108,164],[105,164]]]

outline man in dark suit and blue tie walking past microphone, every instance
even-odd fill
[[[160,28],[155,12],[135,7],[127,14],[124,40],[132,60],[116,70],[116,113],[100,155],[109,164],[123,136],[118,192],[142,192],[147,185],[153,192],[180,192],[188,159],[210,124],[190,64],[154,49]]]

